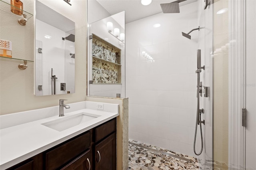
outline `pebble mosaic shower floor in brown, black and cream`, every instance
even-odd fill
[[[176,156],[190,160],[182,160],[172,156],[166,156],[165,154],[155,152],[149,149],[142,148],[129,143],[129,162],[128,170],[199,170],[198,160],[192,156],[179,154],[170,150],[165,150],[149,144],[130,141],[135,144],[146,146],[154,150],[167,152]]]

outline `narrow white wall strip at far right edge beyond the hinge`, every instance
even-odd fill
[[[256,169],[256,2],[246,1],[246,169]]]

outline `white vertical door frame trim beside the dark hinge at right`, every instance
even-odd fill
[[[245,169],[245,134],[242,109],[246,108],[246,0],[229,1],[229,119],[228,166]]]

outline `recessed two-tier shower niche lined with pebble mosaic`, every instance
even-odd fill
[[[92,34],[92,84],[120,84],[121,49]]]

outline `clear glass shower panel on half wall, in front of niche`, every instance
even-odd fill
[[[88,26],[90,96],[125,97],[125,12]]]

